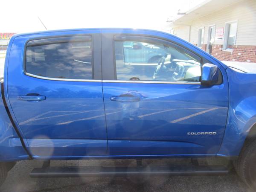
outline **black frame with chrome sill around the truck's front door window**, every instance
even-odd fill
[[[201,68],[201,76],[202,76],[202,67],[204,64],[204,59],[201,55],[199,55],[196,52],[193,52],[190,49],[187,49],[184,46],[181,46],[180,44],[177,44],[173,41],[167,41],[155,37],[148,37],[148,36],[138,36],[138,35],[113,35],[113,64],[114,64],[114,80],[102,80],[102,82],[119,82],[119,83],[150,83],[150,84],[201,84],[201,78],[200,81],[150,81],[150,80],[118,80],[117,74],[116,74],[116,52],[115,52],[115,41],[137,41],[137,42],[146,42],[146,43],[159,43],[164,44],[167,46],[172,46],[173,44],[177,47],[180,47],[181,49],[185,49],[187,52],[192,53],[198,58],[200,58],[200,68]]]

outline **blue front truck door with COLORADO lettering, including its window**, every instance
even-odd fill
[[[217,153],[227,119],[228,88],[224,75],[218,85],[201,86],[201,66],[211,61],[184,45],[153,37],[106,31],[102,42],[109,154]],[[132,54],[126,58],[128,42],[143,44],[148,60],[133,61]]]

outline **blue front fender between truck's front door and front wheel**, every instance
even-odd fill
[[[256,123],[256,74],[227,69],[230,104],[227,126],[218,155],[238,156]]]

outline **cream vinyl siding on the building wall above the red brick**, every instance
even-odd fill
[[[190,42],[198,43],[198,29],[204,26],[204,44],[207,44],[209,25],[216,23],[218,29],[232,20],[238,21],[236,45],[256,45],[256,0],[244,0],[192,21]],[[223,40],[224,37],[215,40],[214,44],[223,44]]]

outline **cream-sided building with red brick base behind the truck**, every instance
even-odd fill
[[[256,62],[256,0],[206,0],[169,26],[220,60]]]

